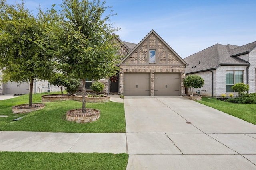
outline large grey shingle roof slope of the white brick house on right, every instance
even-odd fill
[[[184,60],[189,64],[185,68],[186,74],[215,70],[221,65],[249,65],[246,61],[230,56],[228,49],[232,49],[234,47],[236,46],[215,44],[207,49],[184,58]]]

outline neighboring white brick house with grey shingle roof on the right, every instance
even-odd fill
[[[236,83],[249,84],[249,93],[256,92],[256,41],[243,45],[216,44],[184,58],[188,63],[186,76],[197,74],[204,78],[200,95],[220,97],[234,93]]]

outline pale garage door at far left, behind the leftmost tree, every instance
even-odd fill
[[[29,84],[8,82],[5,84],[5,94],[28,94],[29,93]]]

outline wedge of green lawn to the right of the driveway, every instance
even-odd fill
[[[256,125],[256,104],[229,103],[209,97],[202,97],[202,101],[197,102]]]

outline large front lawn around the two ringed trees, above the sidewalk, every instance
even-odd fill
[[[33,103],[41,102],[41,95],[33,95]],[[82,108],[82,102],[46,102],[45,108],[25,114],[13,114],[12,106],[28,103],[28,95],[0,102],[1,131],[39,131],[74,133],[125,133],[124,104],[116,102],[86,103],[86,108],[100,110],[100,118],[91,123],[75,123],[66,120],[66,111]],[[24,117],[25,116],[25,117]],[[13,121],[23,117],[18,121]]]

